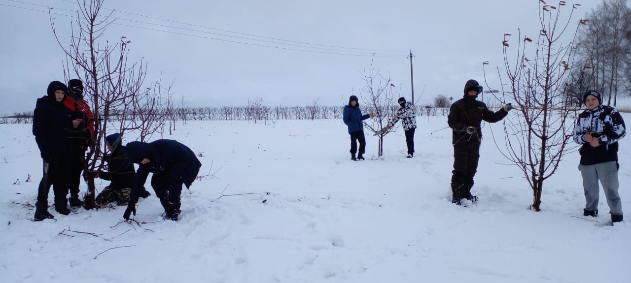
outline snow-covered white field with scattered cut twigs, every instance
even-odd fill
[[[623,118],[631,124],[631,114]],[[203,153],[200,175],[215,178],[184,189],[178,222],[162,221],[155,196],[141,199],[141,227],[121,222],[125,207],[69,216],[50,207],[57,220],[31,221],[33,207],[22,204],[35,203],[42,171],[32,125],[0,125],[0,280],[631,282],[630,216],[603,226],[601,192],[599,222],[576,217],[584,207],[576,151],[545,181],[542,211],[533,212],[528,183],[492,141],[490,128],[497,134],[502,123],[483,124],[480,201],[459,207],[450,202],[451,131],[439,130],[447,118],[417,119],[415,158],[405,158],[399,127],[383,159],[367,132],[365,161],[350,160],[341,119],[180,124],[165,138]],[[631,136],[619,156],[628,212]],[[97,190],[108,183],[97,180]]]

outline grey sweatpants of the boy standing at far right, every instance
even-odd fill
[[[579,165],[583,176],[585,190],[585,209],[596,211],[600,188],[598,180],[603,185],[604,195],[607,197],[609,213],[622,215],[622,202],[618,195],[618,164],[616,161],[598,163],[594,165]]]

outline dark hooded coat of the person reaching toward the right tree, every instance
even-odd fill
[[[467,90],[471,87],[479,86],[475,79],[469,79],[464,84],[464,96],[460,100],[454,102],[449,108],[449,115],[447,115],[447,124],[451,127],[452,144],[454,146],[468,146],[476,147],[480,146],[482,140],[482,130],[480,124],[482,120],[490,123],[495,123],[502,120],[508,112],[504,108],[497,112],[488,110],[487,105],[482,101],[476,100],[477,96],[469,96]],[[474,134],[467,134],[466,127],[475,127],[477,132]]]

